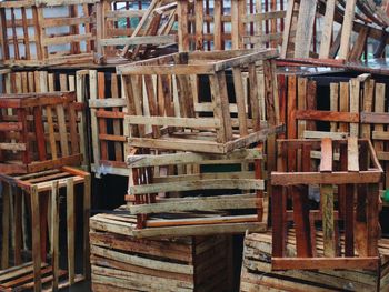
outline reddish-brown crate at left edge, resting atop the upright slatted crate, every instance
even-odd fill
[[[74,92],[0,95],[2,173],[81,163]]]

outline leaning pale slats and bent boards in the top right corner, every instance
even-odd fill
[[[323,18],[321,37],[316,29],[319,18]],[[341,26],[340,29],[335,26],[336,22]],[[382,29],[388,24],[386,10],[373,0],[290,0],[285,18],[281,58],[359,60],[363,52],[367,56],[368,39],[380,42],[373,53],[381,57],[388,41]]]

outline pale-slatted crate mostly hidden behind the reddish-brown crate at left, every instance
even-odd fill
[[[87,111],[83,103],[88,100],[87,77],[89,71],[80,70],[76,72],[59,71],[12,71],[0,70],[1,93],[47,93],[58,91],[74,91],[77,103],[78,141],[82,154],[82,168],[89,170],[89,143]]]

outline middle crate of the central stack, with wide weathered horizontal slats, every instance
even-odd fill
[[[266,231],[262,148],[228,155],[129,155],[128,195],[134,236],[209,235]],[[180,198],[177,198],[180,197]],[[160,214],[163,219],[153,218]]]

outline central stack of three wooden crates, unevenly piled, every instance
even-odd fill
[[[228,234],[267,229],[266,171],[275,157],[266,160],[263,152],[283,130],[277,123],[276,56],[184,52],[118,67],[128,104],[130,214],[91,220],[94,289],[232,288],[222,280],[231,272]],[[215,261],[219,272],[209,276]]]

